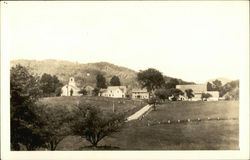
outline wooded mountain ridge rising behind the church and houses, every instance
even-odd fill
[[[139,87],[136,81],[137,72],[126,68],[117,66],[108,62],[97,63],[78,63],[64,60],[13,60],[11,66],[17,64],[29,67],[31,72],[41,76],[43,73],[56,75],[64,84],[68,83],[69,77],[74,77],[79,86],[91,85],[95,87],[96,75],[101,73],[109,83],[110,79],[115,75],[120,78],[122,85],[129,87]],[[172,77],[164,75],[164,79],[169,81]],[[186,82],[178,79],[180,84],[195,84],[193,82]]]

